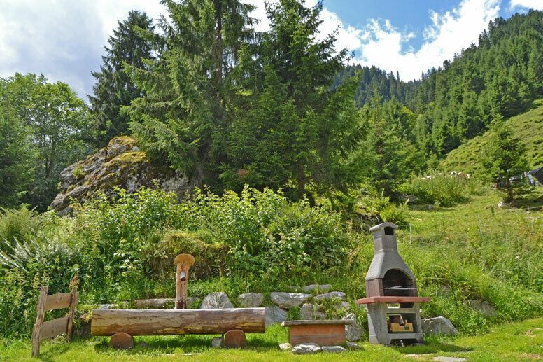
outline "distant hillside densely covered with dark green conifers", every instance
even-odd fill
[[[360,66],[348,67],[348,78]],[[417,143],[439,158],[488,130],[493,120],[526,111],[543,95],[543,13],[497,18],[452,61],[430,69],[422,81],[404,83],[374,67],[362,68],[357,102],[374,94],[397,99],[416,113]]]

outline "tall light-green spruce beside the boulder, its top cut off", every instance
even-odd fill
[[[148,155],[213,186],[225,159],[243,57],[253,40],[253,6],[238,0],[164,1],[164,53],[150,69],[128,67],[145,93],[132,102],[131,129]]]

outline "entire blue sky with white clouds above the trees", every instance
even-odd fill
[[[245,1],[257,6],[257,29],[269,29],[264,1]],[[320,36],[337,30],[337,48],[352,52],[350,64],[409,81],[477,43],[490,20],[530,8],[543,10],[543,0],[327,0]],[[159,0],[0,0],[0,77],[44,74],[86,101],[108,36],[132,9],[153,19],[165,13]]]

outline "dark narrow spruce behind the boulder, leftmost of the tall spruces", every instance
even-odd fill
[[[118,28],[108,38],[109,46],[102,56],[104,64],[100,71],[92,72],[96,78],[93,91],[89,96],[92,112],[96,117],[95,132],[91,140],[97,146],[104,146],[108,141],[120,134],[127,134],[129,116],[120,113],[120,107],[141,97],[134,81],[125,73],[125,64],[146,69],[145,60],[153,57],[153,43],[143,35],[153,32],[152,20],[146,13],[130,11],[128,18],[118,22]]]

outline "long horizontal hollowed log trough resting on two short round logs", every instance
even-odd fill
[[[227,309],[93,309],[92,335],[223,334],[239,329],[264,333],[264,308]]]

